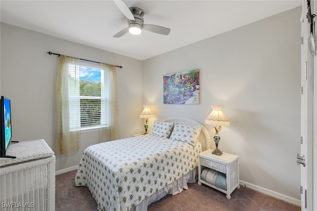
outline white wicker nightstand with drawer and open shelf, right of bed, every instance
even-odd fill
[[[198,155],[198,184],[202,183],[208,185],[222,193],[227,194],[227,199],[231,199],[230,194],[237,188],[239,189],[239,157],[228,153],[222,153],[222,155],[214,155],[212,150],[206,150]],[[225,174],[226,190],[225,188],[216,187],[215,184],[211,184],[212,178],[206,180],[202,179],[202,171],[206,168],[213,169]],[[208,169],[206,169],[208,170]],[[205,171],[206,172],[206,171]]]

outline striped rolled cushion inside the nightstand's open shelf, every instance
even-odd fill
[[[202,171],[201,177],[209,184],[221,188],[222,190],[227,190],[227,178],[224,173],[206,168]]]

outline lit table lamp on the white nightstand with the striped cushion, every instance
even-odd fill
[[[221,126],[229,126],[230,121],[224,116],[221,109],[224,107],[223,105],[212,105],[213,111],[211,114],[205,119],[205,124],[215,126],[214,129],[216,133],[213,135],[214,143],[216,144],[216,148],[212,151],[214,155],[221,155],[222,152],[218,149],[218,144],[220,141],[220,135],[218,132],[221,130]]]

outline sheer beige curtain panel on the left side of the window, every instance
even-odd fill
[[[69,127],[69,106],[80,106],[80,100],[72,99],[69,101],[68,84],[79,83],[79,80],[68,80],[68,68],[69,64],[73,64],[74,67],[79,65],[79,59],[65,55],[59,56],[59,63],[57,67],[56,77],[56,111],[55,111],[55,154],[71,155],[80,148],[80,125],[75,131],[70,131]],[[75,84],[76,85],[76,84]],[[79,87],[79,84],[77,84]],[[79,90],[79,88],[78,88]],[[79,95],[78,95],[79,96]]]

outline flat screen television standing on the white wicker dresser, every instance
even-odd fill
[[[11,105],[10,99],[1,96],[0,100],[0,157],[1,158],[16,158],[7,156],[6,149],[11,143]],[[12,141],[16,142],[16,141]]]

